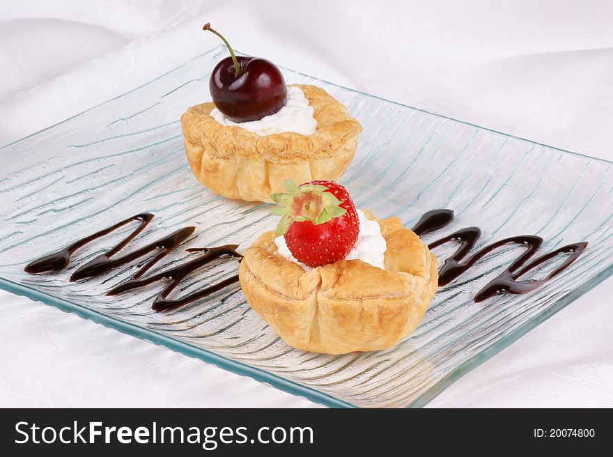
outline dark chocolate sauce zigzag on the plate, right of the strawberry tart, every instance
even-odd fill
[[[442,229],[442,227],[449,224],[449,222],[452,220],[452,210],[433,210],[426,212],[426,214],[419,219],[419,222],[415,224],[412,230],[417,233],[417,235],[421,236],[425,233]],[[467,227],[466,229],[451,233],[451,235],[447,235],[444,238],[440,238],[440,240],[433,241],[428,245],[430,249],[434,249],[437,246],[444,245],[445,243],[451,241],[460,243],[460,247],[458,247],[456,252],[451,257],[445,259],[442,268],[439,271],[439,286],[446,286],[451,281],[459,277],[460,274],[463,274],[469,268],[471,268],[477,261],[479,261],[479,259],[487,256],[499,247],[503,247],[505,245],[520,245],[526,248],[526,250],[518,258],[516,258],[508,268],[492,279],[474,296],[475,302],[482,302],[483,300],[493,297],[494,295],[500,295],[503,293],[527,293],[534,291],[534,289],[542,286],[546,281],[556,277],[560,272],[567,268],[568,265],[571,265],[571,263],[577,260],[577,257],[579,257],[587,247],[587,242],[577,242],[571,245],[559,247],[548,254],[534,259],[534,261],[531,261],[522,268],[522,265],[524,265],[532,256],[534,256],[536,251],[538,251],[538,248],[541,247],[543,244],[543,238],[536,235],[520,235],[493,242],[491,245],[487,245],[486,247],[479,249],[479,251],[476,251],[465,261],[463,261],[463,259],[470,253],[474,245],[476,245],[476,242],[480,237],[481,229],[479,229],[479,227]],[[560,254],[568,254],[566,260],[543,279],[527,279],[525,281],[519,280],[520,277],[524,276],[530,270],[534,270],[539,265],[543,265],[543,263],[550,261],[552,258],[555,258]]]

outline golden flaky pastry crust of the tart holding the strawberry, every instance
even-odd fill
[[[436,257],[397,217],[364,213],[387,242],[385,270],[343,260],[305,272],[279,254],[272,231],[245,250],[239,278],[247,302],[290,346],[325,354],[387,349],[428,309]]]

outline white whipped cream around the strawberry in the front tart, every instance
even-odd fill
[[[357,241],[354,247],[345,256],[345,260],[359,259],[363,262],[370,263],[373,267],[385,270],[383,260],[385,258],[385,249],[387,245],[385,238],[381,235],[381,227],[377,221],[371,221],[366,219],[364,212],[357,210],[357,217],[359,219],[359,233],[357,235]],[[288,248],[285,238],[279,236],[274,238],[274,244],[277,245],[277,251],[281,256],[284,256],[290,261],[293,261],[304,268],[304,271],[311,271],[313,268],[304,265],[299,262],[292,255],[290,248]]]

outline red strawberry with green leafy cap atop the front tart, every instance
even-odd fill
[[[359,219],[345,187],[334,181],[311,181],[297,186],[285,180],[288,193],[272,194],[279,204],[272,215],[283,216],[277,235],[284,235],[297,261],[309,267],[333,263],[355,245]]]

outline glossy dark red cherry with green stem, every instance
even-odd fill
[[[231,54],[215,65],[208,85],[219,111],[231,121],[246,122],[258,121],[284,107],[287,86],[277,65],[259,57],[237,57],[210,24],[203,29],[222,38]]]

